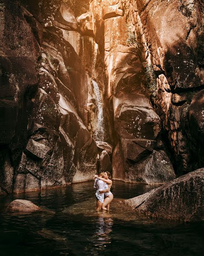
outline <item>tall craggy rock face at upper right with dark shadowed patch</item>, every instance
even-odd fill
[[[134,15],[135,10],[138,15]],[[192,124],[192,117],[188,122],[188,108],[196,94],[193,88],[201,90],[204,81],[203,10],[203,1],[190,0],[136,0],[130,6],[142,63],[147,63],[147,87],[167,134],[178,175],[204,166],[200,157],[203,151],[195,139],[200,130]],[[193,153],[200,151],[199,157]]]

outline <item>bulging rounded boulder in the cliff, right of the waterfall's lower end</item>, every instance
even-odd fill
[[[160,132],[160,118],[142,94],[119,93],[113,99],[116,132],[122,138],[154,140]]]

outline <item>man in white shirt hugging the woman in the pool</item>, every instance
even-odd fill
[[[99,177],[103,178],[104,177],[104,172],[100,171],[99,172]],[[96,211],[100,211],[102,208],[102,204],[104,201],[104,193],[109,192],[110,189],[105,189],[105,182],[102,180],[99,180],[96,178],[95,183],[94,183],[94,188],[96,188]]]

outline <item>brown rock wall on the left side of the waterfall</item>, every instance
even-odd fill
[[[91,179],[91,79],[74,13],[61,0],[0,1],[0,9],[0,193]]]

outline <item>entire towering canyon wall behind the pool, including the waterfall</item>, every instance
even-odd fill
[[[79,2],[0,0],[0,194],[204,166],[204,3]]]

